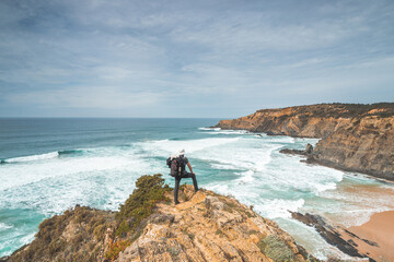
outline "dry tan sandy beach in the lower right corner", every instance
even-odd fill
[[[394,261],[394,211],[373,214],[361,226],[349,227],[357,237],[351,238],[361,253],[378,262]],[[366,241],[368,240],[368,241]]]

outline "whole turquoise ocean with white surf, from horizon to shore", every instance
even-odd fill
[[[182,148],[200,188],[253,205],[320,259],[347,257],[288,211],[348,227],[394,210],[391,182],[279,153],[318,140],[207,128],[219,120],[0,119],[0,257],[76,204],[116,211],[142,175],[163,174],[173,186],[165,159]]]

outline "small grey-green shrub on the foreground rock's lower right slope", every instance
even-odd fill
[[[294,261],[294,253],[291,249],[277,236],[268,236],[258,242],[258,248],[268,258],[275,262]]]

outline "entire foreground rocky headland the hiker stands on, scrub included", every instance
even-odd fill
[[[278,225],[230,196],[143,176],[119,212],[76,206],[44,221],[3,261],[316,261]],[[0,259],[1,260],[1,259]]]

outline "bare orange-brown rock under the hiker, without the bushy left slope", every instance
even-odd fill
[[[273,258],[262,242],[269,236],[283,245],[288,261],[306,261],[305,251],[275,222],[234,199],[205,190],[194,194],[192,190],[186,188],[189,200],[184,203],[159,205],[159,217],[174,219],[158,218],[162,222],[148,224],[143,235],[119,254],[118,261],[269,262]]]

